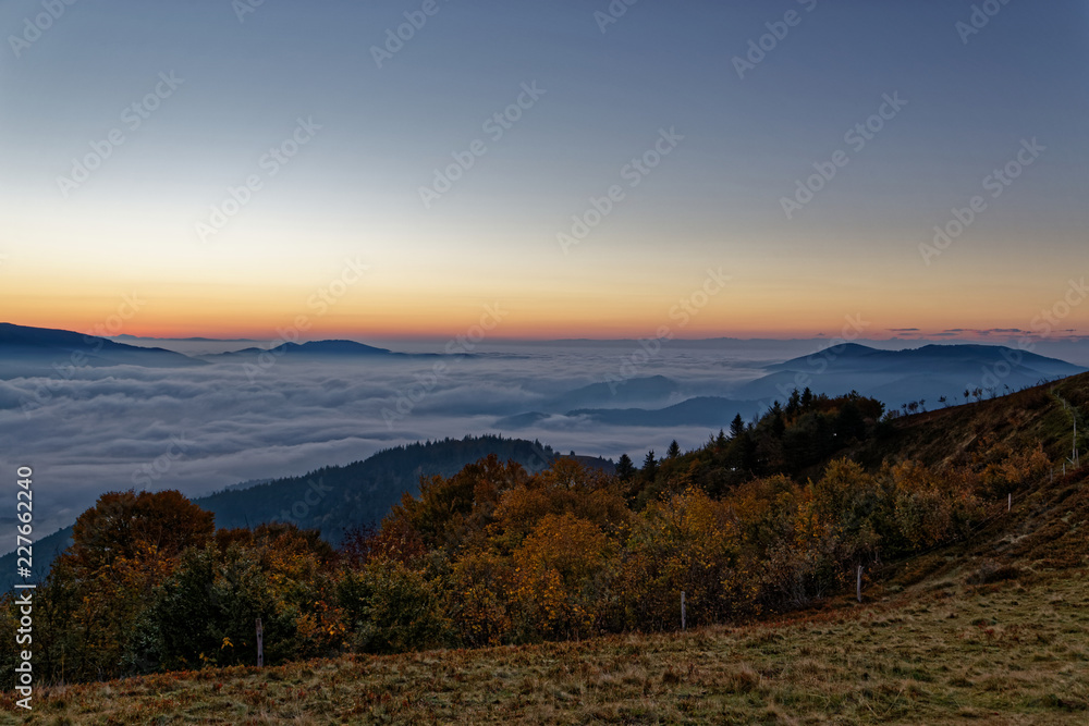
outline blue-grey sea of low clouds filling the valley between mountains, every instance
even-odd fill
[[[692,396],[729,397],[737,385],[763,374],[763,365],[820,346],[817,341],[671,341],[644,359],[634,342],[527,343],[444,358],[318,364],[285,356],[256,374],[242,362],[76,368],[65,377],[0,380],[5,444],[0,471],[35,468],[40,536],[70,525],[109,490],[172,488],[197,496],[238,481],[346,464],[405,442],[497,432],[495,422],[504,416],[563,414],[548,410],[549,402],[625,377],[665,376],[676,383],[668,398],[640,404],[645,407]],[[1044,347],[1038,353],[1089,362],[1084,343]],[[436,376],[440,360],[445,369]],[[602,407],[632,405],[625,384],[616,390],[615,405]],[[28,399],[40,403],[29,416],[21,408]],[[696,446],[711,433],[699,427],[603,426],[562,415],[501,432],[539,438],[561,452],[607,457],[626,452],[633,458],[648,448],[664,451],[673,438]]]

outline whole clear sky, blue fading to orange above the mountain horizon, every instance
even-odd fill
[[[1089,329],[1085,2],[15,0],[0,30],[8,322]]]

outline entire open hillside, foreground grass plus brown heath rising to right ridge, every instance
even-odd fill
[[[1089,410],[1089,376],[1056,387]],[[1049,387],[905,419],[858,454],[974,439],[1065,451]],[[1062,446],[1062,448],[1061,448]],[[1023,492],[970,542],[888,565],[866,602],[683,636],[344,657],[39,691],[3,723],[1089,724],[1089,477]],[[991,581],[988,583],[988,581]]]

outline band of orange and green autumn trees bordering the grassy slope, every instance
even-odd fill
[[[176,492],[106,494],[35,593],[38,682],[254,664],[258,617],[274,664],[672,629],[681,591],[690,625],[800,607],[858,564],[966,536],[988,503],[1048,470],[1039,450],[982,446],[940,471],[841,458],[788,476],[829,436],[873,435],[874,413],[799,396],[617,476],[568,458],[530,473],[491,455],[425,479],[338,550],[284,524],[217,531]],[[13,642],[11,596],[2,613]],[[5,677],[13,665],[0,663]]]

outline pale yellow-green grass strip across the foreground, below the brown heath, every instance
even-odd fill
[[[53,688],[28,723],[1087,723],[1089,576],[1021,578],[683,636]]]

